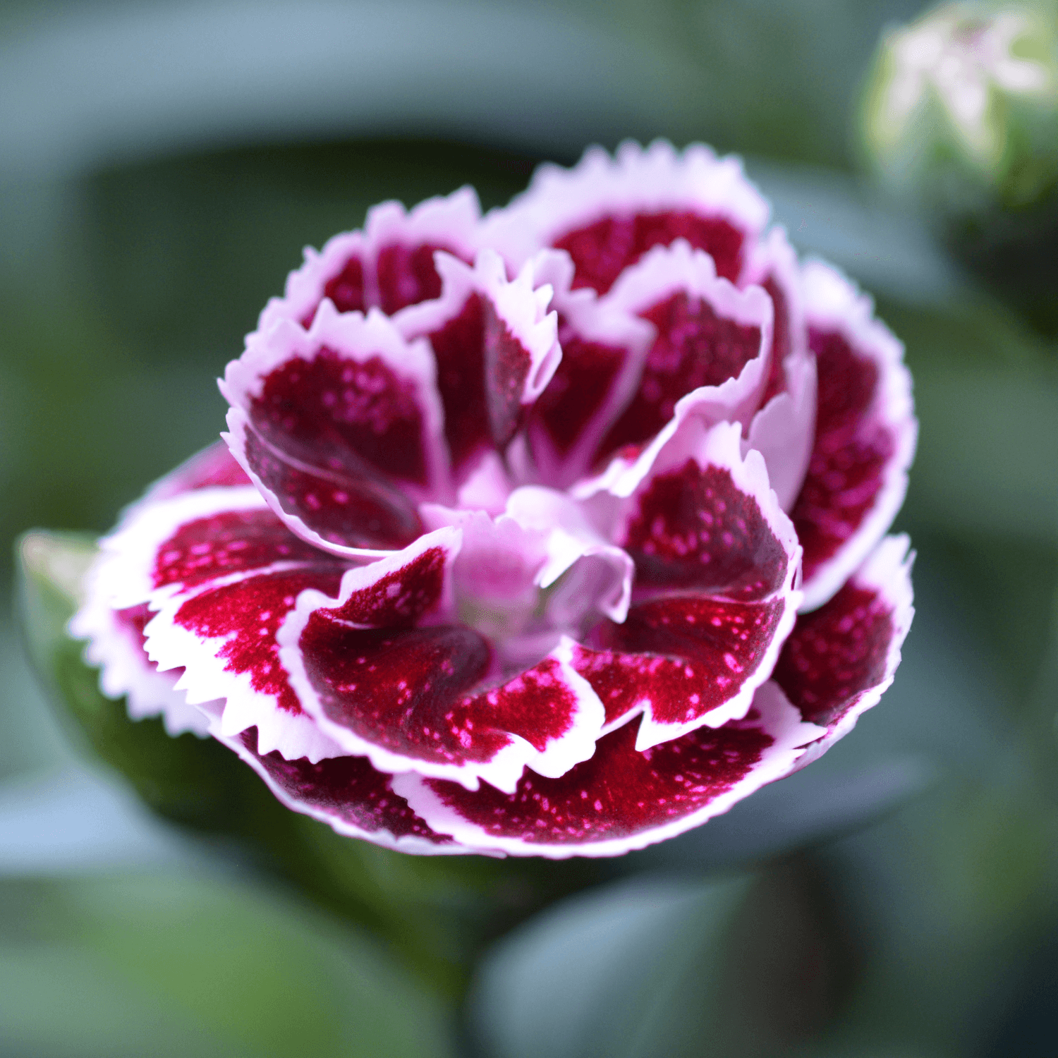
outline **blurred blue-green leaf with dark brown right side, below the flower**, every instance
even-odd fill
[[[831,1021],[851,966],[808,861],[713,882],[647,875],[506,937],[471,1011],[494,1058],[778,1058]]]

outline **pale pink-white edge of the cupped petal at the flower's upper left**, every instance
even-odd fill
[[[452,486],[443,437],[444,412],[437,393],[437,367],[433,352],[423,340],[409,342],[402,338],[390,318],[377,309],[371,309],[366,316],[359,312],[340,313],[325,299],[308,331],[289,321],[280,321],[266,334],[251,334],[245,352],[229,363],[224,378],[218,381],[221,395],[232,405],[227,412],[229,433],[221,434],[221,437],[269,507],[295,535],[323,551],[354,561],[391,554],[385,549],[347,547],[323,537],[298,514],[284,510],[275,492],[260,479],[247,456],[248,433],[253,433],[276,459],[310,474],[327,475],[326,468],[305,464],[278,451],[260,436],[250,419],[250,406],[261,395],[264,379],[270,373],[293,360],[311,361],[323,348],[358,363],[378,357],[395,375],[415,385],[423,419],[422,442],[428,484],[422,489],[413,482],[395,479],[395,487],[399,485],[416,500],[449,497]]]

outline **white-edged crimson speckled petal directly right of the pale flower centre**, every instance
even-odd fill
[[[645,714],[640,749],[745,715],[794,626],[801,548],[740,439],[735,423],[685,420],[614,508],[613,539],[636,564],[633,605],[576,664],[607,729]]]

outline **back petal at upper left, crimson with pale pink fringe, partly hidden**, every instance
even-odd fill
[[[434,253],[445,250],[471,260],[478,244],[480,206],[472,187],[420,202],[406,213],[384,202],[367,214],[365,232],[335,235],[287,277],[286,293],[273,297],[257,324],[260,333],[288,320],[309,327],[320,303],[329,298],[340,312],[381,308],[394,313],[438,296]]]

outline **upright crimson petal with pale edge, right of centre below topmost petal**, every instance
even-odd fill
[[[717,278],[708,255],[678,241],[626,270],[602,304],[647,320],[657,336],[600,455],[647,441],[690,394],[699,415],[749,424],[771,347],[771,299],[763,290]]]

